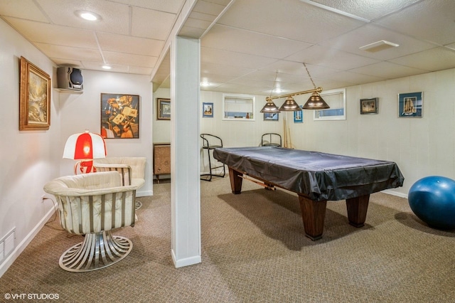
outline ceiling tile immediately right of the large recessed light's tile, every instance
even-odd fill
[[[133,7],[132,36],[166,41],[176,14]]]

